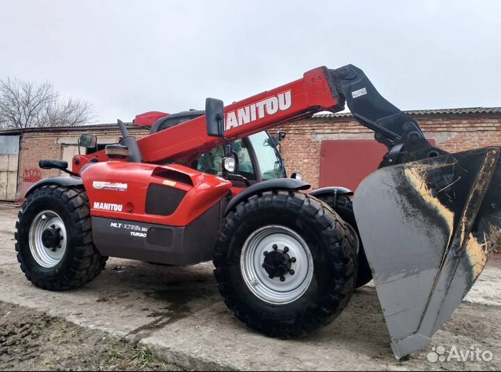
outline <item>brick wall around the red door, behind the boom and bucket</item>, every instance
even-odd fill
[[[425,136],[434,138],[437,147],[449,152],[501,144],[501,114],[434,114],[413,115],[413,118],[420,123]],[[280,143],[280,152],[288,174],[299,172],[312,188],[318,187],[322,140],[374,138],[373,131],[351,116],[310,118],[285,124],[280,129],[287,132]]]

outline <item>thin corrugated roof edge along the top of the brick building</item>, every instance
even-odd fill
[[[409,110],[404,111],[409,115],[477,115],[477,114],[501,114],[501,107],[466,107],[466,108],[437,108],[434,110]],[[351,113],[316,113],[312,118],[349,118]],[[125,123],[127,129],[140,128],[131,122]],[[144,127],[148,129],[147,127]],[[82,131],[82,130],[105,130],[118,129],[116,123],[104,124],[86,124],[73,126],[59,127],[44,127],[44,128],[26,128],[26,129],[0,129],[0,134],[22,134],[30,131]]]

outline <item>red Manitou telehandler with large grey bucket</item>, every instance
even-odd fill
[[[449,154],[432,146],[353,65],[318,67],[225,107],[207,99],[205,115],[138,140],[119,120],[120,144],[74,156],[72,170],[41,160],[72,177],[42,179],[26,193],[15,234],[26,278],[58,291],[93,280],[109,256],[172,265],[213,258],[225,304],[253,329],[297,337],[330,323],[356,286],[356,234],[300,179],[258,169],[251,184],[232,143],[345,104],[388,147],[353,211],[392,350],[400,358],[422,348],[500,245],[500,147]],[[95,147],[95,137],[80,144]],[[197,170],[221,145],[217,174]]]

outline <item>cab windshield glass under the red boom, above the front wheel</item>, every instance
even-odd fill
[[[263,180],[284,178],[285,170],[282,165],[282,159],[276,149],[273,139],[266,131],[249,136],[257,164],[259,165],[260,175]]]

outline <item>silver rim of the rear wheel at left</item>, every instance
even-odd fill
[[[29,229],[29,247],[37,264],[44,268],[56,266],[63,259],[66,245],[66,228],[58,213],[46,210],[33,218]]]

